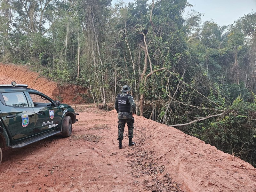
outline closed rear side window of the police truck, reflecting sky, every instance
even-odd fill
[[[28,101],[23,92],[2,93],[6,105],[13,107],[28,107]]]

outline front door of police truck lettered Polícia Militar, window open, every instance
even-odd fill
[[[62,111],[56,107],[54,101],[44,94],[37,92],[28,92],[32,100],[32,106],[35,112],[35,129],[38,132],[46,132],[60,127]]]

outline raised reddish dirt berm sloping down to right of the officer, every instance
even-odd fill
[[[173,127],[136,116],[137,132],[143,132],[144,150],[154,149],[158,164],[164,164],[185,191],[256,191],[256,169],[240,158]]]

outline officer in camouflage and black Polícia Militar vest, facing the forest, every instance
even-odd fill
[[[129,94],[131,87],[128,85],[124,85],[121,94],[118,94],[115,100],[115,109],[118,113],[118,139],[119,140],[119,149],[122,146],[122,140],[124,139],[124,126],[125,123],[128,125],[128,138],[129,138],[129,146],[135,144],[132,142],[133,138],[133,123],[134,118],[132,115],[135,113],[136,105],[133,100],[133,97]]]

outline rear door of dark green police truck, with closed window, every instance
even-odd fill
[[[35,113],[28,105],[24,92],[4,92],[0,94],[0,100],[4,104],[1,118],[14,140],[36,134]]]

